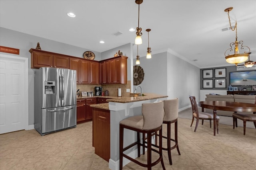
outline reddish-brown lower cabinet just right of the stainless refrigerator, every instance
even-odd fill
[[[97,104],[97,98],[78,99],[76,101],[76,124],[92,121],[91,104]]]

